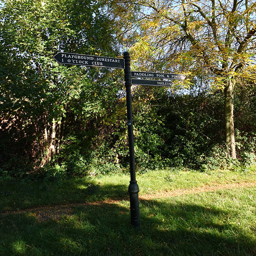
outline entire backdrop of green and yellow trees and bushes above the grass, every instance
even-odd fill
[[[249,163],[255,149],[255,8],[251,0],[4,0],[0,175],[127,169],[122,72],[60,66],[52,58],[61,51],[120,57],[121,48],[129,48],[135,71],[187,76],[170,90],[132,88],[140,171],[223,166],[229,163],[225,138],[230,155]],[[189,93],[177,92],[183,88]]]

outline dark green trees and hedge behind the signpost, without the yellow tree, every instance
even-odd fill
[[[128,170],[123,71],[60,66],[52,58],[59,51],[122,57],[102,5],[15,2],[5,1],[0,12],[0,176]],[[186,92],[133,88],[138,171],[207,170],[255,160],[255,85],[246,81],[235,90],[237,159],[231,160],[221,90],[199,83],[198,76],[190,79]]]

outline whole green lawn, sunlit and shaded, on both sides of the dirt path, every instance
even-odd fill
[[[163,190],[255,183],[256,166],[137,175],[139,195],[147,195],[140,200],[139,232],[130,227],[129,180],[129,175],[117,174],[59,182],[2,181],[0,255],[256,254],[255,186],[149,196]],[[64,204],[72,211],[60,218],[42,221],[36,215]]]

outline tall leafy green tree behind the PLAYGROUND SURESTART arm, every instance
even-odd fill
[[[15,164],[7,164],[9,156],[14,157],[10,162],[20,164],[20,156],[24,166],[39,168],[58,154],[68,118],[78,110],[87,120],[102,112],[97,103],[111,93],[102,86],[113,85],[108,70],[95,75],[88,68],[61,66],[53,56],[63,51],[116,57],[118,43],[97,1],[2,2],[0,168],[13,168]]]

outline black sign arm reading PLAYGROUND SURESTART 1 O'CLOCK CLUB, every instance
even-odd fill
[[[60,64],[92,66],[92,67],[111,67],[111,68],[125,68],[124,59],[117,59],[111,57],[100,57],[83,54],[72,54],[67,52],[58,52],[54,55],[54,59]]]

